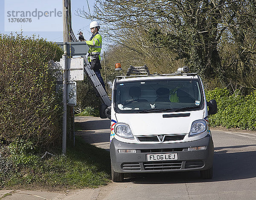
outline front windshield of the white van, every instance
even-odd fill
[[[116,83],[117,113],[157,113],[201,110],[204,106],[198,79],[157,79]]]

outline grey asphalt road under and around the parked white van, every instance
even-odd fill
[[[88,121],[87,121],[88,120]],[[108,119],[77,119],[87,130],[78,134],[98,147],[108,149]],[[87,121],[87,122],[86,122]],[[199,172],[125,174],[124,183],[99,189],[97,200],[255,200],[256,133],[212,130],[213,178],[202,180]]]

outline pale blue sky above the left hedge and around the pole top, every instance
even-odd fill
[[[88,0],[88,3],[90,11],[93,12],[93,4],[95,3],[95,0]],[[75,35],[81,29],[84,33],[84,38],[89,39],[91,35],[89,24],[91,21],[76,16],[76,10],[78,8],[82,9],[83,7],[88,11],[86,0],[71,0],[72,29]],[[17,13],[16,11],[20,12]],[[39,35],[41,38],[46,38],[47,41],[61,42],[63,41],[62,17],[58,17],[58,11],[62,12],[62,0],[0,0],[0,33],[20,33],[21,28],[23,29],[23,35],[31,36],[35,34]],[[22,17],[21,12],[23,12],[23,16],[24,14],[27,14],[27,17],[26,15],[25,17]],[[19,23],[11,21],[12,18],[16,17],[16,15],[18,16],[16,18],[30,18],[28,16],[29,12],[30,14],[34,12],[34,16],[36,16],[31,17],[31,23],[28,21],[23,23],[22,27],[20,27]],[[47,17],[39,17],[39,15],[43,15],[43,13]],[[51,16],[49,16],[50,14]]]

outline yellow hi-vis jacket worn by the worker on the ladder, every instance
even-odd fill
[[[92,35],[90,38],[90,41],[86,41],[87,45],[90,47],[88,53],[90,55],[99,55],[99,60],[100,60],[100,51],[102,48],[102,37],[99,35],[99,33],[95,33]],[[91,62],[90,56],[88,58],[88,61]]]

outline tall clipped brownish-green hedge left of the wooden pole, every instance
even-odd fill
[[[22,35],[0,35],[0,139],[49,146],[61,141],[62,103],[48,70],[62,50]]]

